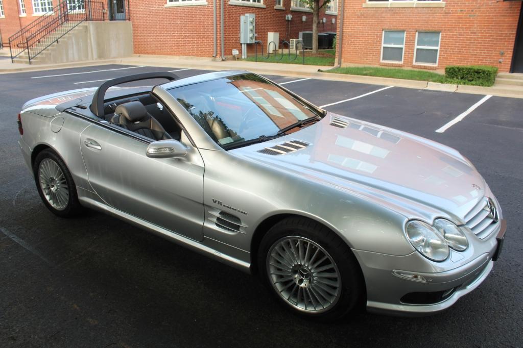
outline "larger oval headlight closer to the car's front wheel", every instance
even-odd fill
[[[449,256],[449,245],[439,231],[422,221],[407,223],[407,236],[414,249],[433,261],[443,261]]]

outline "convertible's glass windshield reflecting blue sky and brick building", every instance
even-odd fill
[[[169,93],[215,142],[227,147],[274,136],[292,124],[323,116],[321,111],[254,74],[177,87],[169,89]]]

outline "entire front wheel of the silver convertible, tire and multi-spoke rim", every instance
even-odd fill
[[[330,322],[364,308],[365,282],[353,252],[310,219],[290,217],[269,229],[258,270],[280,303],[302,317]]]

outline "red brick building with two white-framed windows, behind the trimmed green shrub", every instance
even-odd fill
[[[520,16],[521,1],[345,0],[342,65],[523,72]]]

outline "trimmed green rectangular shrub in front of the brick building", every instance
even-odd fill
[[[497,67],[487,65],[447,66],[446,83],[490,87],[494,85]]]

